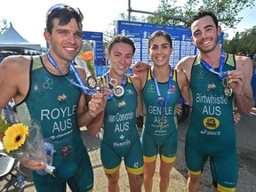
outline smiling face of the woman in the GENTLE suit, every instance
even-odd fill
[[[172,47],[164,36],[155,36],[149,44],[148,53],[154,66],[169,65]]]

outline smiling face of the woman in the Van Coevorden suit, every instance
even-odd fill
[[[130,44],[115,43],[107,55],[111,70],[115,71],[118,76],[123,76],[132,64],[133,48]]]

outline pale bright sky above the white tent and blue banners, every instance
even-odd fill
[[[103,32],[113,20],[118,18],[119,13],[128,13],[128,2],[128,0],[4,0],[1,2],[0,19],[11,21],[13,28],[29,42],[45,46],[43,36],[45,14],[52,5],[68,4],[80,8],[84,14],[84,31]],[[178,2],[182,4],[182,0]],[[156,11],[158,4],[159,0],[131,0],[133,10],[144,12]],[[132,12],[132,15],[142,16],[141,13],[135,12]],[[255,7],[253,10],[244,9],[239,16],[244,19],[235,31],[228,31],[229,36],[234,36],[237,30],[243,31],[244,28],[252,28],[256,25]]]

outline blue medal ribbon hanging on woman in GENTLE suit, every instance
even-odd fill
[[[171,88],[172,88],[172,68],[170,68],[170,75],[169,75],[169,82],[168,82],[168,88],[167,88],[167,95],[166,95],[166,99],[164,100],[163,102],[163,97],[161,97],[161,92],[159,90],[159,87],[158,87],[158,83],[157,83],[157,80],[156,80],[156,76],[155,76],[155,72],[154,72],[154,68],[152,68],[152,72],[153,72],[153,78],[154,78],[154,81],[155,81],[155,85],[156,85],[156,92],[157,92],[157,100],[162,108],[162,113],[164,115],[164,112],[165,112],[165,108],[170,100],[170,97],[171,97]]]

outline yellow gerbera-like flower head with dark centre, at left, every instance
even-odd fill
[[[28,136],[28,126],[25,124],[13,124],[4,132],[3,146],[7,153],[20,148]]]

